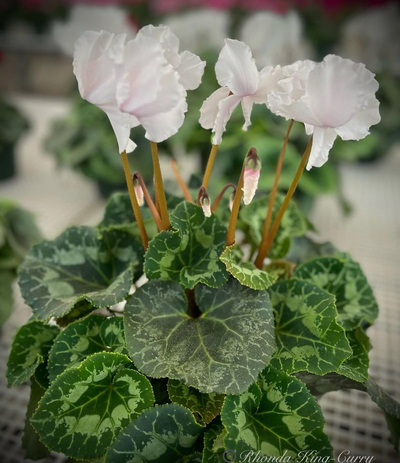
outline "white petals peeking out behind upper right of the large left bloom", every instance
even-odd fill
[[[185,90],[194,90],[200,85],[205,61],[201,61],[190,51],[179,53],[179,39],[169,27],[162,24],[157,27],[149,24],[137,32],[137,37],[151,37],[161,44],[166,59],[179,74],[179,81]]]

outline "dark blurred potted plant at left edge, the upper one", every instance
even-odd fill
[[[28,123],[18,109],[0,97],[0,180],[15,174],[14,148]]]

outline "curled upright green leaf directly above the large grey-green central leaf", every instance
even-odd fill
[[[158,233],[148,244],[144,272],[149,279],[169,279],[193,288],[197,283],[221,286],[228,278],[219,260],[226,229],[201,207],[180,203],[170,214],[173,230]]]

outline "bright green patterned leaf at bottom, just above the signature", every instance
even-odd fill
[[[330,458],[321,409],[305,385],[271,366],[262,371],[258,384],[240,395],[226,396],[221,411],[226,448],[237,455],[259,451],[260,458],[285,451],[296,458],[300,451],[312,449],[321,458]]]

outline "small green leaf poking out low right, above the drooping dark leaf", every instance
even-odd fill
[[[346,337],[353,353],[343,361],[336,371],[354,379],[354,381],[363,382],[368,379],[368,352],[371,348],[369,337],[362,328],[346,331]]]

